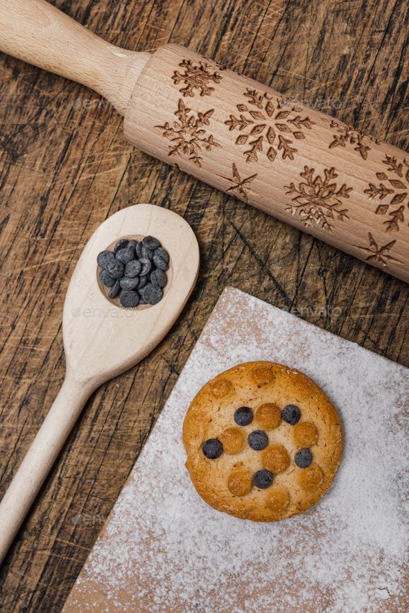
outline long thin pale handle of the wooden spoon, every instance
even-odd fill
[[[24,521],[92,389],[69,375],[0,503],[0,562]]]

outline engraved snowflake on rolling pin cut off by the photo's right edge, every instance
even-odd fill
[[[405,201],[409,208],[409,161],[404,159],[403,162],[398,162],[396,157],[386,155],[383,163],[388,166],[388,172],[376,172],[379,183],[369,183],[365,194],[369,196],[369,200],[388,199],[389,202],[378,204],[375,213],[388,214],[388,219],[383,222],[386,231],[397,232],[399,224],[405,221]]]

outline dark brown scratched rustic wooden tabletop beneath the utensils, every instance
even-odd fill
[[[405,0],[54,3],[114,44],[191,46],[408,150]],[[406,366],[409,290],[141,154],[84,87],[5,56],[0,79],[0,495],[62,384],[64,294],[96,226],[153,202],[184,215],[202,257],[168,337],[88,402],[0,572],[1,610],[58,611],[225,285]]]

